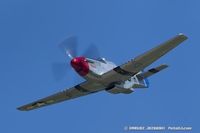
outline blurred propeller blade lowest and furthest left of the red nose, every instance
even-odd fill
[[[67,74],[69,65],[64,62],[55,62],[52,64],[52,73],[56,81],[62,80]]]

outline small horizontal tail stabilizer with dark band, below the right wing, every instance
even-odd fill
[[[143,79],[145,79],[145,78],[147,78],[147,77],[150,77],[151,75],[153,75],[153,74],[155,74],[155,73],[157,73],[157,72],[159,72],[159,71],[161,71],[161,70],[163,70],[163,69],[165,69],[165,68],[167,68],[167,67],[168,67],[168,65],[162,64],[162,65],[160,65],[160,66],[158,66],[158,67],[149,69],[149,70],[146,71],[146,72],[143,72],[143,73],[138,74],[138,75],[137,75],[137,78],[138,78],[138,80],[143,80]]]

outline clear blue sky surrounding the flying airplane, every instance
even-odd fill
[[[192,126],[199,132],[200,2],[197,0],[1,0],[0,132],[122,133],[126,125]],[[72,69],[56,82],[51,64],[69,61],[57,44],[79,37],[121,64],[178,33],[189,39],[150,67],[170,67],[150,88],[100,92],[30,112],[19,105],[78,83]],[[149,67],[149,68],[150,68]]]

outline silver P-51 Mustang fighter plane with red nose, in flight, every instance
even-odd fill
[[[147,78],[168,66],[163,64],[148,71],[143,70],[186,39],[185,35],[179,34],[120,66],[116,66],[104,58],[76,57],[72,50],[63,46],[65,52],[71,58],[71,66],[86,81],[18,109],[28,111],[102,90],[112,94],[130,94],[134,89],[147,88]]]

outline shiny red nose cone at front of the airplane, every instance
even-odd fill
[[[81,76],[85,76],[89,73],[89,64],[85,57],[75,57],[71,60],[71,66]]]

